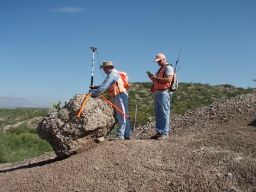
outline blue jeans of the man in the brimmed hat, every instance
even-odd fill
[[[120,109],[125,115],[128,115],[128,94],[122,93],[113,97],[114,105]],[[121,138],[130,138],[131,127],[129,124],[129,119],[127,119],[122,113],[115,109],[116,120],[118,122],[118,129],[116,136]]]

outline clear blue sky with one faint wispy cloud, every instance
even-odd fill
[[[49,106],[104,79],[102,61],[149,82],[157,53],[179,81],[256,87],[256,1],[0,0],[0,96]],[[104,74],[105,76],[105,74]]]

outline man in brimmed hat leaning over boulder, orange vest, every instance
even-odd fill
[[[93,86],[93,89],[96,90],[95,92],[91,92],[90,96],[97,97],[100,93],[107,90],[108,96],[113,97],[114,105],[125,113],[125,115],[128,115],[128,93],[118,71],[114,69],[114,64],[112,61],[103,61],[99,68],[103,68],[103,71],[108,75],[100,86]],[[129,119],[125,118],[125,116],[116,109],[115,112],[118,121],[118,130],[116,132],[116,137],[111,140],[130,139],[131,128]]]

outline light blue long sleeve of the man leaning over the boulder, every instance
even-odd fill
[[[108,76],[106,76],[106,79],[104,82],[98,86],[95,92],[93,92],[93,95],[98,96],[100,93],[111,87],[117,80],[119,79],[118,74],[112,70],[110,73],[108,73]]]

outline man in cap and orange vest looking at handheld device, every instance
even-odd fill
[[[153,91],[155,93],[155,121],[157,126],[157,134],[152,139],[163,140],[168,138],[169,119],[170,119],[170,100],[171,100],[171,80],[173,79],[173,67],[166,63],[166,56],[158,53],[155,57],[160,69],[157,73],[149,74],[148,77],[153,81]]]

